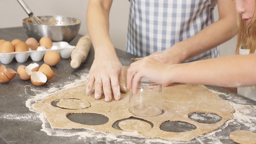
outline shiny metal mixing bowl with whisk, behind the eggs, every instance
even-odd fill
[[[38,16],[46,25],[33,24],[30,18],[22,20],[28,37],[36,38],[39,42],[43,36],[49,37],[53,42],[71,42],[80,29],[81,20],[65,16]]]

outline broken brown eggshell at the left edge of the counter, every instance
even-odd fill
[[[3,64],[0,66],[0,82],[7,83],[10,82],[15,76],[16,72],[11,68],[6,68]]]

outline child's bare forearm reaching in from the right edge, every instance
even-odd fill
[[[256,84],[256,54],[234,55],[177,64],[168,79],[187,84],[239,87]]]

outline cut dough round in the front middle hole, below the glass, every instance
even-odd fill
[[[126,132],[137,131],[138,133],[150,130],[152,128],[149,123],[135,119],[123,120],[119,122],[118,126]]]

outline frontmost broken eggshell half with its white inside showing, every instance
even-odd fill
[[[42,86],[46,83],[47,77],[42,72],[32,72],[30,76],[31,82],[36,86]]]

